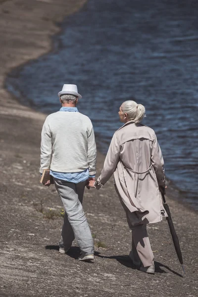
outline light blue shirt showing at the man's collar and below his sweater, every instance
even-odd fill
[[[61,107],[60,111],[72,111],[79,112],[77,107]],[[54,178],[61,179],[63,181],[71,182],[71,183],[80,183],[86,181],[89,177],[95,177],[95,175],[89,175],[89,168],[85,169],[81,172],[56,172],[50,170],[50,175]]]

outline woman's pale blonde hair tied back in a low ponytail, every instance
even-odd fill
[[[127,100],[123,102],[121,109],[128,115],[129,120],[134,120],[136,124],[140,123],[145,117],[145,106],[137,104],[135,101]]]

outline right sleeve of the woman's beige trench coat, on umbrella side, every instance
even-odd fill
[[[155,134],[152,143],[151,163],[157,177],[158,185],[165,186],[164,160]]]

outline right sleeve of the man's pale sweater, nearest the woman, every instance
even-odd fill
[[[87,150],[89,175],[96,174],[96,156],[97,156],[97,148],[96,148],[96,142],[95,142],[95,136],[94,136],[94,128],[91,122],[89,131],[88,131],[88,150]]]

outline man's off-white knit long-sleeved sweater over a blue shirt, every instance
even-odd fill
[[[57,172],[96,174],[96,143],[90,118],[80,112],[49,114],[41,134],[41,167]]]

